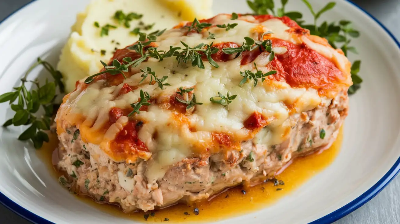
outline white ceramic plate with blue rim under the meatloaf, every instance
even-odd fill
[[[19,85],[40,56],[56,64],[75,15],[89,0],[36,0],[0,24],[0,94]],[[214,12],[250,12],[245,0],[214,0]],[[326,1],[312,0],[316,8]],[[322,20],[354,22],[361,37],[353,44],[362,60],[362,88],[350,98],[340,154],[324,171],[276,204],[220,223],[329,223],[375,196],[400,169],[400,44],[382,24],[345,0]],[[308,10],[298,0],[290,10]],[[311,19],[306,17],[306,19]],[[350,58],[353,59],[353,58]],[[36,72],[36,73],[35,73]],[[38,75],[35,70],[31,78]],[[12,116],[0,105],[0,123]],[[36,156],[16,140],[21,128],[0,128],[0,201],[35,223],[132,223],[77,200],[63,189]]]

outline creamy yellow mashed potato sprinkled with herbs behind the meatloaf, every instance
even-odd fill
[[[64,76],[66,91],[73,91],[78,79],[97,73],[102,68],[100,60],[108,61],[116,48],[136,42],[139,36],[131,33],[135,28],[150,33],[172,28],[181,20],[206,18],[211,16],[211,4],[212,0],[92,0],[86,11],[77,15],[60,56],[58,70]],[[128,22],[129,28],[124,20],[120,24],[114,19],[119,10],[125,15],[137,14]]]

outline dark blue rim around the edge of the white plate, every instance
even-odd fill
[[[393,39],[393,41],[397,44],[399,50],[400,50],[400,42],[394,37],[392,32],[386,28],[385,25],[383,25],[377,18],[372,16],[369,12],[358,6],[356,3],[346,0],[362,12],[364,12],[367,16],[372,18],[382,29],[386,31],[386,33]],[[21,8],[15,10],[12,12],[10,15],[8,15],[6,18],[4,18],[2,21],[0,21],[0,24],[2,24],[4,21],[6,21],[10,16],[14,15],[16,12],[19,10],[22,10],[32,2],[36,2],[36,0],[32,0],[31,2],[28,2]],[[321,218],[318,218],[315,221],[310,222],[309,224],[325,224],[325,223],[332,223],[348,214],[356,210],[357,208],[360,208],[362,205],[364,205],[366,202],[371,200],[374,196],[376,196],[383,188],[385,188],[390,181],[392,181],[396,175],[400,172],[400,158],[394,163],[392,168],[386,174],[376,183],[374,186],[369,188],[366,192],[358,196],[356,199],[352,200],[348,204],[342,206],[341,208],[331,212],[330,214],[327,214],[326,216],[323,216]],[[12,201],[10,198],[5,196],[0,192],[0,203],[3,204],[6,208],[10,209],[12,212],[18,214],[22,218],[25,218],[26,220],[34,223],[34,224],[54,224],[53,222],[50,222],[49,220],[46,220],[33,212],[30,212],[26,210],[25,208],[22,208],[22,206],[18,205],[16,202]]]

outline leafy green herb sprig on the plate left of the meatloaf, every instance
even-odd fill
[[[28,81],[26,79],[28,74],[38,65],[43,65],[43,67],[50,72],[54,78],[54,82],[46,80],[46,84],[40,85],[38,80]],[[20,87],[14,87],[16,91],[0,95],[0,103],[9,102],[11,104],[11,109],[15,111],[14,117],[6,121],[3,127],[10,125],[30,125],[18,139],[22,141],[30,139],[36,149],[42,147],[43,142],[49,141],[49,137],[44,131],[50,130],[53,108],[56,105],[54,103],[56,99],[56,87],[59,88],[60,92],[64,92],[64,84],[61,79],[62,75],[60,71],[57,71],[50,63],[43,61],[39,57],[36,63],[34,63],[28,71],[26,71],[24,77],[22,77],[22,84]],[[28,82],[33,83],[37,89],[28,91],[25,85]],[[17,99],[18,103],[12,104]],[[40,109],[40,106],[44,109],[45,114],[37,116],[36,113]]]

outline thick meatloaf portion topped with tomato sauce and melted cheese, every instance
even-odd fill
[[[212,26],[182,23],[140,42],[144,56],[138,43],[117,50],[103,74],[64,97],[56,117],[61,184],[126,212],[153,210],[258,184],[330,146],[352,84],[340,50],[289,18],[243,15],[230,30],[214,25],[231,15],[200,22]],[[228,54],[248,38],[264,44]],[[176,46],[162,60],[153,54]],[[181,60],[194,47],[213,53]],[[124,75],[106,72],[146,56]]]

